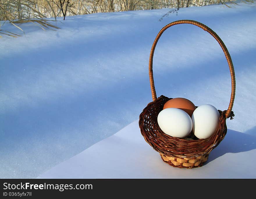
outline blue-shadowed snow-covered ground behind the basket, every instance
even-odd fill
[[[256,4],[58,18],[60,30],[22,24],[0,39],[0,178],[35,178],[133,121],[152,101],[148,59],[163,26],[191,19],[223,40],[236,75],[228,129],[256,135]],[[54,23],[55,25],[55,23]],[[164,32],[154,54],[157,96],[225,110],[231,78],[216,40],[189,24]],[[135,165],[136,166],[136,165]]]

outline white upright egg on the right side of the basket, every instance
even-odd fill
[[[209,104],[198,106],[192,114],[192,132],[199,139],[207,139],[216,132],[219,125],[220,114]]]

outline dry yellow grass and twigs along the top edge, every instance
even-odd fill
[[[9,22],[24,32],[22,23],[34,23],[43,30],[58,29],[52,25],[52,17],[92,14],[97,12],[118,12],[129,10],[149,10],[159,8],[179,8],[190,6],[206,6],[211,4],[225,4],[233,0],[0,0],[0,21]],[[243,0],[253,3],[255,0]],[[225,4],[228,6],[227,4]],[[8,31],[1,30],[0,34],[17,37]],[[1,36],[0,36],[1,37]]]

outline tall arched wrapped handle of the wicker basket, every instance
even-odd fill
[[[225,46],[225,44],[223,43],[223,41],[221,40],[221,38],[213,31],[211,30],[209,27],[207,27],[206,25],[198,22],[198,21],[193,21],[193,20],[179,20],[179,21],[174,21],[172,23],[169,23],[168,25],[166,25],[165,27],[163,27],[160,32],[157,34],[156,39],[154,40],[154,43],[152,45],[151,51],[150,51],[150,57],[149,57],[149,79],[150,79],[150,87],[151,87],[151,92],[152,92],[152,99],[153,101],[157,100],[157,94],[156,94],[156,90],[155,90],[155,85],[154,85],[154,78],[153,78],[153,56],[154,56],[154,50],[156,48],[157,42],[160,38],[160,36],[163,34],[163,32],[167,29],[170,28],[173,25],[177,25],[177,24],[183,24],[183,23],[188,23],[188,24],[192,24],[192,25],[196,25],[199,28],[202,28],[203,30],[209,32],[219,43],[219,45],[221,46],[226,59],[227,59],[227,63],[229,65],[229,69],[230,69],[230,74],[231,74],[231,96],[230,96],[230,103],[228,106],[228,109],[225,113],[226,118],[228,118],[231,114],[231,110],[234,104],[234,98],[235,98],[235,87],[236,87],[236,81],[235,81],[235,72],[234,72],[234,66],[230,57],[229,52],[227,51],[227,47]]]

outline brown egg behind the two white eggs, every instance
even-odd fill
[[[170,99],[169,101],[167,101],[164,105],[163,105],[163,109],[166,108],[179,108],[184,110],[187,114],[189,114],[189,116],[191,117],[194,110],[195,110],[195,105],[188,99],[186,98],[173,98]]]

